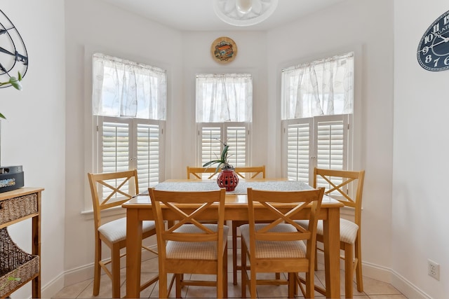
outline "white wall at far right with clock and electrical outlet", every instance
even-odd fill
[[[449,293],[448,162],[449,71],[431,72],[417,62],[427,27],[448,11],[394,1],[394,176],[391,267],[431,298]],[[424,5],[423,5],[424,4]],[[427,259],[441,265],[440,281],[427,275]]]

